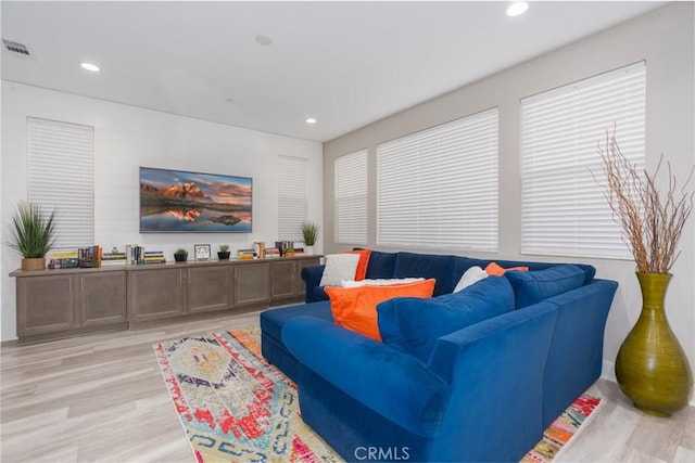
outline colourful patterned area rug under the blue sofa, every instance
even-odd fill
[[[296,386],[261,356],[258,327],[154,345],[198,462],[340,462],[301,419]],[[549,462],[599,399],[581,396],[523,462]]]

